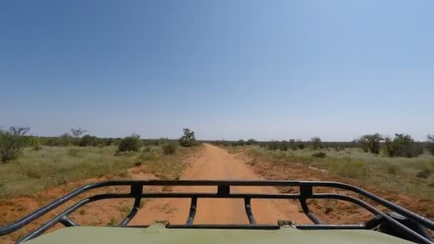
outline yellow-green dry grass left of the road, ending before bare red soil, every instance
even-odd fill
[[[31,195],[69,181],[123,173],[138,161],[138,153],[115,156],[116,147],[44,146],[27,148],[18,161],[0,165],[0,196]]]

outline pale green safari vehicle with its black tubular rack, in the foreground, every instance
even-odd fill
[[[217,188],[215,193],[147,193],[143,192],[146,185],[207,185]],[[36,230],[19,240],[19,243],[433,243],[429,230],[434,229],[434,222],[410,212],[388,200],[378,197],[366,190],[344,183],[325,181],[106,181],[85,185],[54,200],[49,205],[36,210],[24,218],[0,228],[0,235],[13,233],[24,225],[40,218],[49,211],[63,205],[72,198],[86,191],[106,186],[128,186],[128,193],[105,193],[89,198],[66,208]],[[298,187],[297,194],[258,194],[231,193],[232,186],[288,186]],[[315,193],[317,188],[335,188],[348,190],[360,195],[355,198],[350,195],[336,193]],[[351,194],[353,195],[353,194]],[[74,223],[69,215],[88,203],[111,198],[133,198],[131,212],[115,227],[91,227]],[[142,198],[190,198],[191,206],[185,225],[159,223],[154,225],[128,225],[138,212]],[[245,225],[198,225],[194,224],[198,198],[241,198],[249,220]],[[298,225],[292,221],[278,221],[276,224],[257,224],[252,199],[295,199],[299,200],[303,213],[313,222],[308,225]],[[374,208],[369,202],[382,205],[390,213]],[[373,213],[375,218],[360,225],[323,224],[310,210],[308,199],[338,199],[355,203]],[[51,233],[43,234],[56,223],[67,228],[61,228]]]

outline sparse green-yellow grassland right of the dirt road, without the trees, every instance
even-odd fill
[[[321,150],[271,151],[251,148],[248,156],[260,161],[287,164],[302,163],[328,173],[368,183],[397,193],[422,198],[434,198],[434,156],[423,154],[415,158],[389,158],[365,153],[359,148]],[[325,153],[325,157],[318,154]]]

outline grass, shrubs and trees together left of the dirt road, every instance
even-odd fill
[[[184,129],[179,140],[97,138],[71,129],[58,137],[29,136],[29,127],[0,131],[0,197],[32,195],[71,181],[116,175],[128,178],[128,168],[144,165],[143,173],[179,178],[183,160],[200,143]],[[186,133],[187,132],[187,133]]]

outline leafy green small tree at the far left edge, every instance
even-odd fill
[[[13,161],[23,153],[23,149],[29,145],[29,138],[26,133],[29,127],[9,128],[9,131],[0,131],[0,160],[3,163]]]

